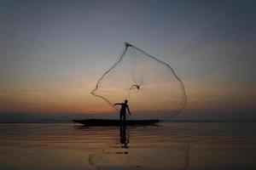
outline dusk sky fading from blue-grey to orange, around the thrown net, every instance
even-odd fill
[[[256,120],[255,16],[253,0],[2,0],[0,114],[111,112],[90,91],[130,42],[183,80],[177,118]]]

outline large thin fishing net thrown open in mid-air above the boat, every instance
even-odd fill
[[[131,112],[142,117],[171,119],[187,104],[183,82],[172,67],[128,42],[91,94],[111,106],[128,99]]]

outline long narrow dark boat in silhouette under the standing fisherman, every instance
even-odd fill
[[[147,126],[154,125],[157,122],[160,122],[159,119],[148,119],[148,120],[126,120],[121,122],[119,120],[111,119],[84,119],[84,120],[73,120],[73,122],[78,122],[84,124],[88,127],[107,127],[107,126]]]

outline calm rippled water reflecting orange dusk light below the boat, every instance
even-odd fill
[[[0,169],[256,169],[256,123],[0,124]]]

